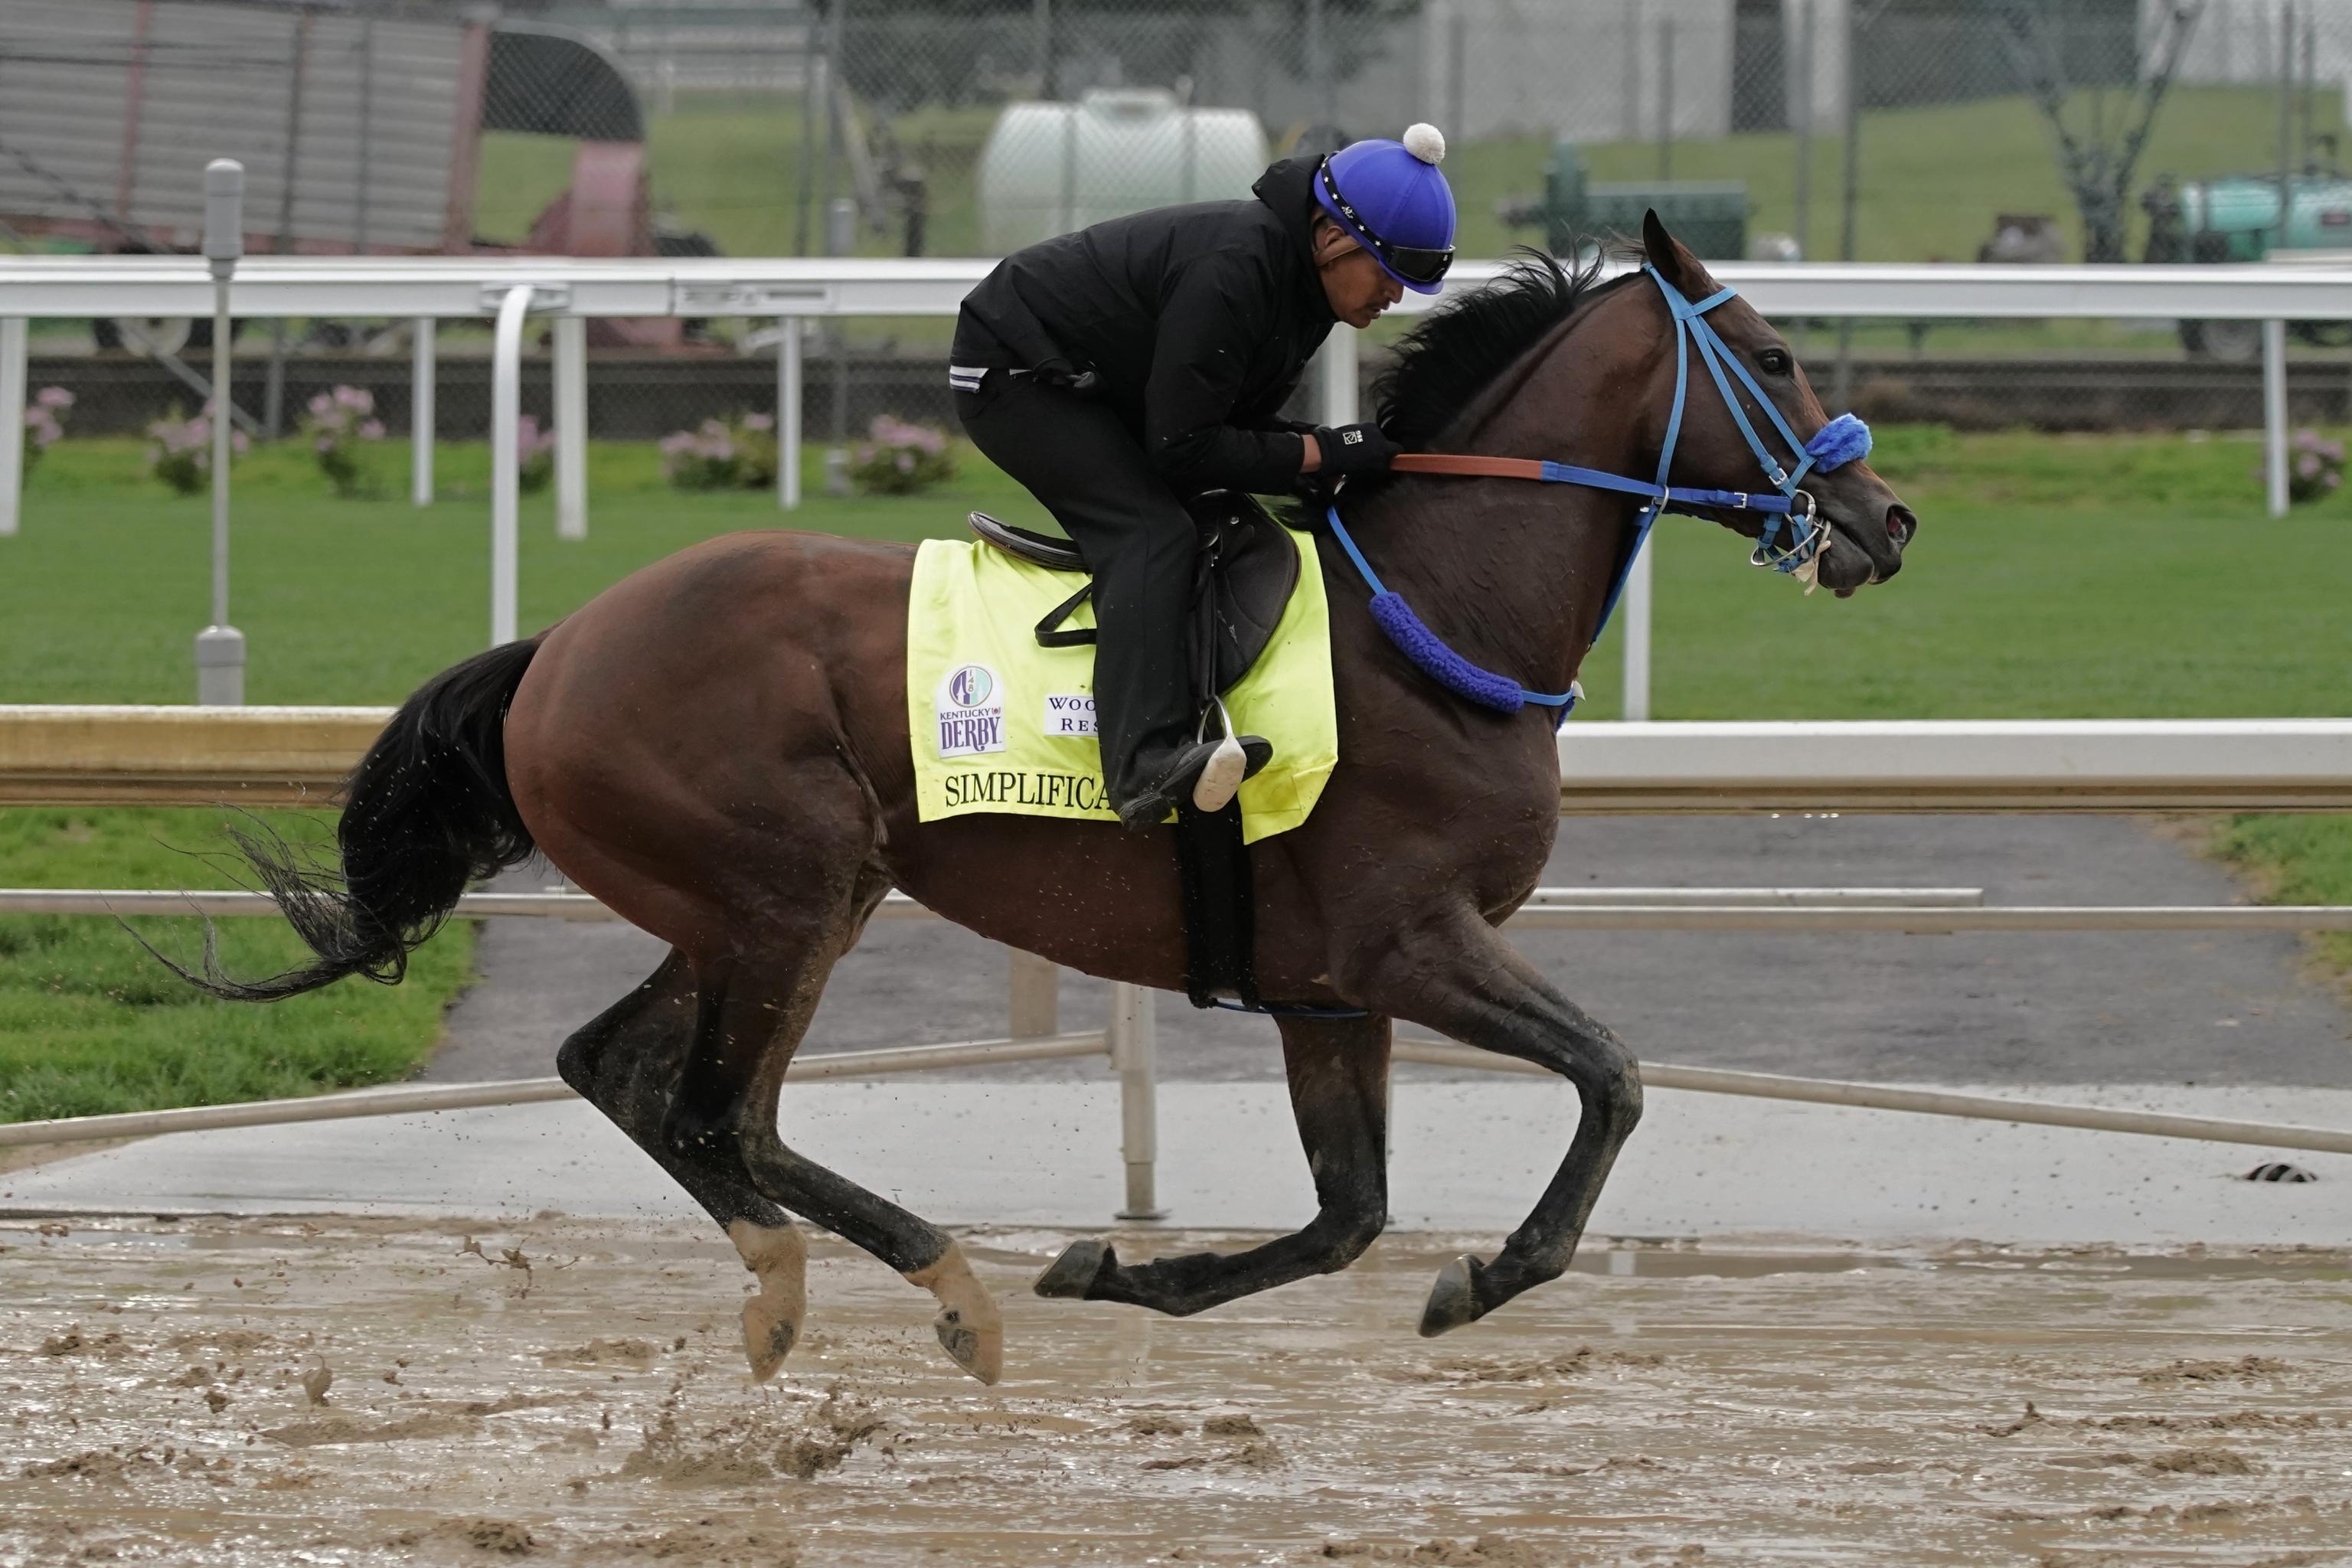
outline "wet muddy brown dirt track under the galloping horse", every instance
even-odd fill
[[[1432,1342],[1444,1239],[1188,1321],[1065,1239],[964,1237],[995,1389],[818,1239],[755,1387],[699,1227],[12,1220],[0,1563],[2352,1563],[2340,1253],[1595,1244]]]

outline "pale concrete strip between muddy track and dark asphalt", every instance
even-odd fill
[[[2067,1093],[2256,1121],[2352,1126],[2352,1091]],[[1505,1232],[1576,1124],[1564,1084],[1397,1088],[1395,1227]],[[1110,1084],[807,1084],[783,1135],[946,1225],[1101,1229],[1120,1206]],[[2352,1157],[2296,1154],[2319,1182],[2237,1180],[2272,1152],[1653,1091],[1592,1215],[1595,1237],[1992,1241],[2020,1246],[2343,1246]],[[1315,1213],[1277,1084],[1169,1084],[1160,1201],[1188,1229],[1277,1229]],[[581,1103],[174,1133],[0,1175],[0,1213],[421,1213],[699,1218],[652,1159]]]

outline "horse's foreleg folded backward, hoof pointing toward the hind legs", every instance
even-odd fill
[[[1388,1222],[1388,1018],[1282,1018],[1282,1067],[1298,1143],[1315,1173],[1305,1229],[1247,1253],[1120,1262],[1103,1241],[1075,1241],[1037,1279],[1037,1295],[1129,1302],[1188,1316],[1355,1262]]]

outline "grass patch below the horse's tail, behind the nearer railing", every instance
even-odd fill
[[[221,811],[0,811],[9,886],[223,886],[181,851],[221,849]],[[325,818],[273,813],[289,832]],[[181,961],[200,922],[132,922]],[[275,973],[306,957],[275,919],[223,919],[230,973]],[[0,917],[0,1121],[89,1117],[158,1105],[266,1100],[409,1074],[473,971],[473,929],[426,943],[405,985],[334,985],[273,1006],[214,1001],[101,917]]]

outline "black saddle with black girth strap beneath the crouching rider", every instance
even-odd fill
[[[1195,703],[1223,696],[1249,675],[1275,637],[1291,590],[1298,550],[1256,496],[1214,489],[1188,503],[1200,548],[1192,557],[1192,614],[1185,621],[1185,668]],[[1051,571],[1084,571],[1087,557],[1068,538],[1030,534],[988,512],[971,512],[971,531],[997,550]],[[1037,644],[1068,649],[1094,642],[1094,630],[1065,621],[1087,602],[1084,583],[1037,623]],[[1176,806],[1176,870],[1183,898],[1185,994],[1192,1006],[1268,1009],[1258,997],[1256,893],[1242,846],[1242,804],[1200,811]],[[1230,1001],[1228,1001],[1230,999]]]

